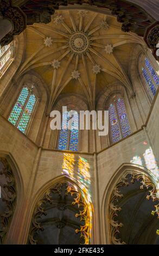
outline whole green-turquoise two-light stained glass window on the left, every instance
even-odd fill
[[[8,118],[10,123],[15,125],[23,133],[26,132],[35,103],[36,97],[32,93],[32,89],[23,87]]]

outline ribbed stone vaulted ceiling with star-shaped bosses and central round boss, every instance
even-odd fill
[[[26,29],[26,54],[18,75],[36,71],[49,89],[49,109],[61,95],[77,94],[88,108],[109,84],[133,93],[129,63],[142,38],[121,31],[116,17],[90,10],[59,10],[47,25]]]

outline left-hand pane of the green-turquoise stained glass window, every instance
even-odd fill
[[[27,100],[28,94],[29,94],[28,88],[23,87],[22,92],[21,92],[20,96],[18,97],[17,102],[16,102],[14,108],[12,109],[10,116],[8,118],[10,123],[12,123],[13,125],[16,125],[17,120],[20,117],[24,103]]]

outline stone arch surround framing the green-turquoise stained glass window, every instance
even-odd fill
[[[12,108],[15,106],[18,95],[20,95],[21,90],[25,84],[29,87],[34,86],[33,90],[36,94],[36,104],[31,114],[31,119],[29,121],[27,136],[34,142],[39,143],[40,134],[42,132],[42,124],[46,120],[47,113],[47,102],[48,102],[48,89],[41,77],[36,74],[36,72],[29,72],[23,76],[20,76],[17,80],[12,81],[9,92],[5,95],[3,101],[1,102],[0,109],[1,114],[8,119]],[[34,118],[33,118],[34,117]],[[34,119],[34,120],[33,120]]]

